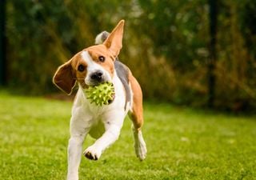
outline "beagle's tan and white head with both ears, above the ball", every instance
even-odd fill
[[[59,66],[54,74],[54,84],[66,94],[71,94],[76,81],[83,88],[112,82],[114,60],[122,49],[123,26],[124,20],[118,22],[102,44],[78,52],[70,61]]]

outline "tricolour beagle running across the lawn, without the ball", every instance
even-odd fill
[[[86,158],[98,160],[102,152],[118,139],[126,114],[133,122],[135,153],[140,160],[146,158],[146,143],[142,137],[142,90],[129,68],[118,61],[124,23],[124,20],[118,22],[110,34],[106,31],[98,34],[96,45],[75,54],[54,74],[54,84],[66,94],[71,94],[78,83],[70,119],[68,180],[78,180],[86,135],[90,134],[96,141],[83,154]],[[86,98],[86,88],[102,82],[114,84],[114,100],[109,105],[96,106]]]

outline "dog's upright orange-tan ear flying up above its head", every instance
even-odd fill
[[[118,25],[115,26],[114,30],[106,38],[106,41],[103,44],[110,50],[110,53],[116,58],[122,49],[122,34],[123,26],[125,24],[124,20],[118,22]]]

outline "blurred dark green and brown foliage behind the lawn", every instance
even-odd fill
[[[102,30],[126,20],[120,59],[144,96],[203,106],[207,99],[209,6],[206,0],[7,2],[8,82],[26,94],[57,91],[56,68]],[[256,100],[256,2],[218,2],[215,106],[250,109]]]

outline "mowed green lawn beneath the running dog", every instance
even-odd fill
[[[0,179],[66,178],[71,106],[0,92]],[[80,179],[256,179],[256,116],[145,102],[144,162],[130,126],[97,162],[82,158]]]

